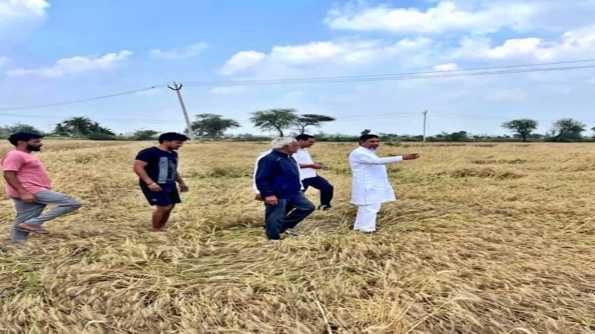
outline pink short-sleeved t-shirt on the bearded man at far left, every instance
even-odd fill
[[[17,172],[17,179],[29,193],[36,194],[42,190],[52,188],[48,172],[43,163],[31,153],[13,150],[2,159],[4,171]],[[10,184],[6,184],[6,194],[10,197],[20,197],[21,194]]]

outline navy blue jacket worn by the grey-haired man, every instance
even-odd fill
[[[255,179],[256,188],[263,198],[289,198],[297,196],[302,190],[296,160],[278,150],[273,150],[259,160]]]

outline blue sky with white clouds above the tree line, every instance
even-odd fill
[[[89,116],[118,133],[181,131],[190,117],[240,121],[294,108],[337,118],[312,132],[504,134],[572,117],[595,127],[595,69],[346,83],[191,86],[193,81],[345,77],[595,58],[595,0],[0,0],[0,125],[51,130]],[[577,64],[572,64],[577,65]],[[578,65],[595,65],[594,62]],[[145,87],[109,99],[88,99]]]

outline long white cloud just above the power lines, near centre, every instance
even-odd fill
[[[302,45],[274,46],[268,54],[242,51],[233,55],[221,69],[221,74],[268,68],[284,71],[317,64],[365,65],[405,53],[417,52],[433,45],[426,37],[402,39],[396,43],[381,40],[347,40],[311,42]],[[409,59],[413,62],[414,59]]]

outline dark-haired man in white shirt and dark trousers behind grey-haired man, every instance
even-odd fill
[[[318,210],[331,210],[333,208],[333,206],[331,206],[331,200],[333,200],[334,193],[333,185],[316,173],[316,170],[324,167],[324,164],[314,162],[308,152],[308,148],[314,145],[316,138],[309,134],[300,134],[296,137],[296,140],[300,149],[293,154],[293,159],[296,159],[297,164],[300,166],[300,178],[302,178],[303,191],[305,192],[308,190],[308,187],[310,186],[320,190],[320,206],[318,207]]]

